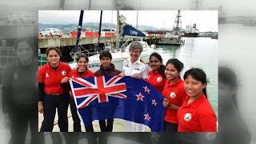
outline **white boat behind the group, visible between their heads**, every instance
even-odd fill
[[[147,63],[149,62],[150,54],[154,52],[154,46],[149,46],[146,42],[140,41],[143,47],[142,54],[140,56],[142,62]],[[126,46],[125,50],[115,50],[114,52],[110,52],[112,55],[112,63],[114,64],[117,70],[122,70],[123,61],[127,58],[130,58],[129,52],[130,45]],[[93,56],[89,57],[89,65],[88,69],[92,71],[96,71],[99,69],[101,65],[99,54],[94,54]],[[78,67],[77,62],[70,62],[71,69],[75,69]]]

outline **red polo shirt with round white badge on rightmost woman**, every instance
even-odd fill
[[[216,132],[217,118],[206,96],[190,104],[188,100],[178,110],[178,132]]]

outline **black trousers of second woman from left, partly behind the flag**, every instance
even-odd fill
[[[74,98],[70,97],[70,111],[72,114],[73,118],[73,126],[74,126],[74,132],[81,132],[81,123],[80,123],[80,118],[78,117],[78,109],[77,106],[75,105]],[[85,126],[86,132],[93,132],[94,127],[93,124],[90,123],[89,126]]]

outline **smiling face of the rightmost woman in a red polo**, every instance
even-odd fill
[[[191,75],[188,75],[184,80],[184,89],[186,94],[190,97],[199,97],[202,95],[202,90],[206,87],[206,83],[202,83],[195,78],[192,78]]]

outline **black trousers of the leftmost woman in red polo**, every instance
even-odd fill
[[[43,101],[43,121],[41,132],[51,132],[54,128],[54,117],[56,108],[58,110],[58,127],[61,132],[68,131],[67,109],[69,106],[68,95],[48,95],[45,94]]]

